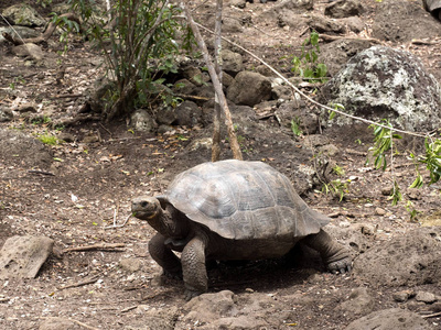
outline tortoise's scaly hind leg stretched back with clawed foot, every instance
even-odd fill
[[[309,235],[301,241],[306,246],[318,251],[332,273],[340,272],[344,274],[351,272],[352,257],[349,251],[338,244],[325,231],[320,230],[319,233]]]

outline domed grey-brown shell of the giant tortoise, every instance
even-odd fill
[[[179,174],[169,202],[226,239],[299,239],[330,219],[310,209],[290,180],[261,162],[204,163]]]

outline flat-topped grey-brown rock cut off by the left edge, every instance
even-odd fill
[[[34,278],[52,252],[45,237],[12,237],[0,251],[0,278]]]

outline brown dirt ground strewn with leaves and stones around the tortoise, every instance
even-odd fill
[[[2,1],[0,10],[14,2]],[[225,23],[226,36],[287,75],[284,56],[299,54],[304,31],[324,18],[327,6],[315,1],[309,14],[290,16],[277,11],[279,2],[247,2],[244,9],[225,2],[226,16],[233,18]],[[440,40],[427,28],[440,22],[417,15],[402,1],[356,2],[365,9],[356,22],[363,28],[327,32],[338,40],[321,43],[331,75],[359,50],[381,43],[416,54],[441,79]],[[212,2],[200,10],[212,13]],[[349,26],[344,19],[334,21]],[[237,22],[251,23],[239,29]],[[54,241],[54,252],[35,278],[1,282],[2,329],[441,329],[440,188],[407,188],[415,178],[407,151],[418,152],[421,141],[398,145],[394,175],[405,200],[392,207],[390,168],[383,173],[365,165],[372,129],[356,124],[295,138],[272,116],[236,112],[244,157],[288,175],[312,208],[332,217],[329,231],[351,246],[354,271],[329,274],[309,252],[295,266],[219,264],[209,270],[209,293],[185,304],[182,283],[161,278],[147,251],[153,230],[133,218],[123,227],[114,223],[127,220],[133,196],[161,194],[178,173],[208,161],[203,142],[211,127],[141,133],[121,119],[56,131],[53,122],[72,118],[84,105],[100,58],[80,40],[58,55],[56,36],[37,65],[1,45],[0,107],[17,111],[0,128],[0,246],[13,235],[44,235]],[[259,65],[244,57],[247,68]],[[61,64],[65,74],[57,80]],[[303,90],[316,95],[314,88]],[[47,133],[68,142],[49,146],[35,140]],[[323,193],[323,177],[299,172],[320,167],[313,162],[320,151],[342,169],[333,174],[347,183],[342,201]],[[227,140],[222,157],[230,157]],[[365,316],[370,319],[348,327]]]

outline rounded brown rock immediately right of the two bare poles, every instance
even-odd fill
[[[271,82],[260,74],[240,72],[227,89],[227,97],[236,105],[254,107],[271,97]]]

